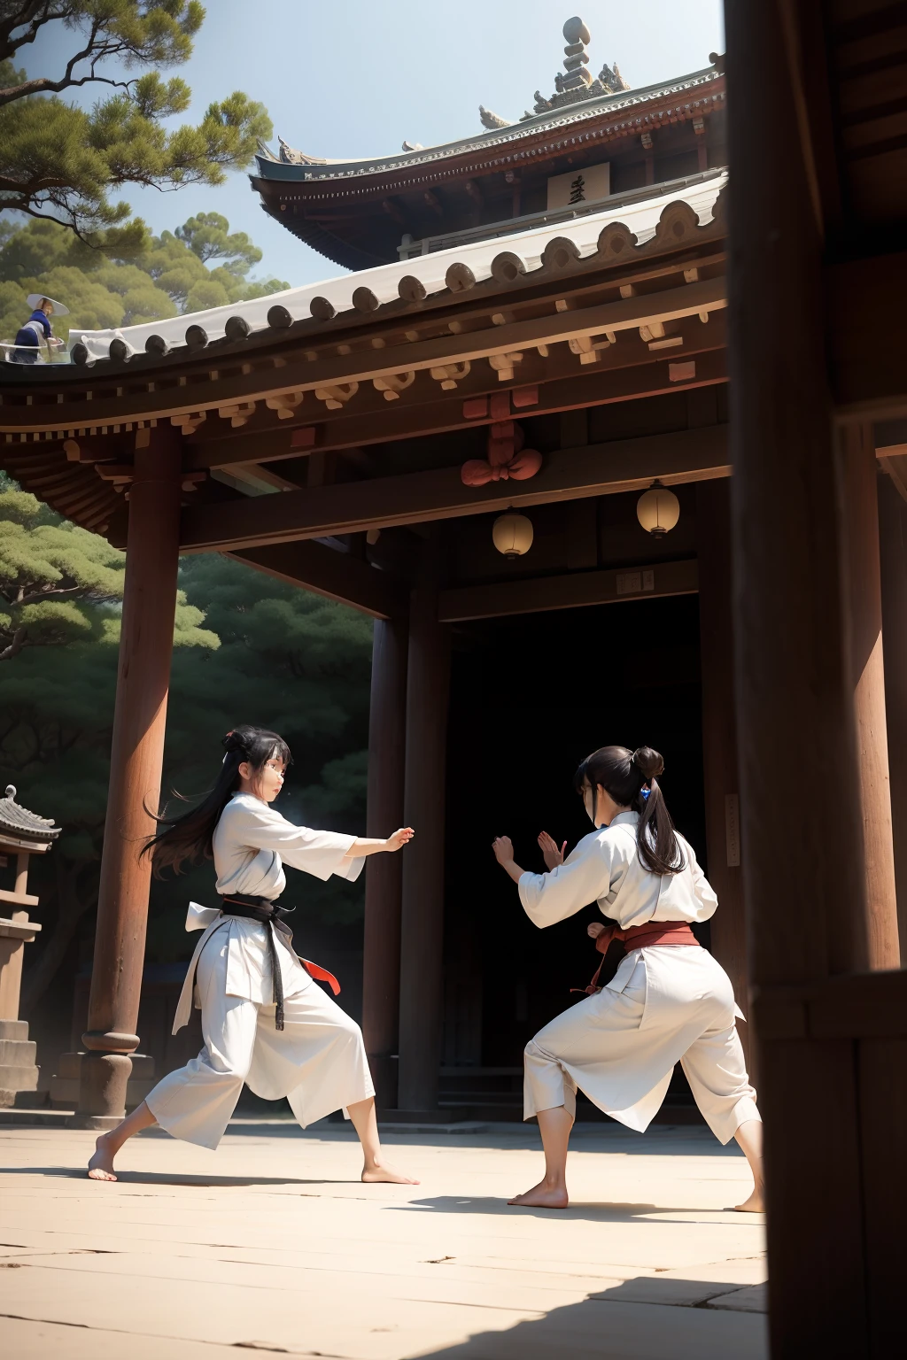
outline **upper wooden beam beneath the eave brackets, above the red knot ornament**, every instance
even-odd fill
[[[719,324],[713,321],[703,330],[711,330]],[[703,337],[704,339],[704,337]],[[723,325],[715,337],[715,348],[706,351],[688,345],[670,351],[665,358],[646,360],[632,367],[608,369],[589,367],[571,373],[556,381],[538,385],[538,401],[513,412],[513,419],[528,420],[532,416],[549,415],[558,411],[587,409],[619,401],[638,401],[643,397],[662,396],[665,392],[685,392],[692,388],[715,386],[728,381],[728,363],[723,350]],[[708,336],[711,344],[713,336]],[[692,359],[696,371],[692,378],[673,381],[672,366],[679,360]],[[517,385],[518,386],[518,385]],[[511,390],[506,388],[504,390]],[[233,435],[223,439],[208,439],[204,443],[188,445],[185,450],[186,468],[224,468],[242,462],[277,462],[284,458],[301,458],[314,450],[363,447],[364,445],[386,443],[407,439],[412,435],[447,434],[453,430],[468,430],[472,426],[487,424],[491,415],[477,420],[466,420],[462,413],[464,393],[457,390],[451,397],[412,404],[396,401],[389,409],[375,413],[318,416],[315,443],[298,449],[292,445],[292,427],[267,430],[253,434]],[[513,405],[513,401],[511,401]]]

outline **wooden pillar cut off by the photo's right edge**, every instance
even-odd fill
[[[907,964],[907,503],[878,479],[885,726],[902,966]]]

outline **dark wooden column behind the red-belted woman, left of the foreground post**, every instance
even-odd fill
[[[730,978],[747,1024],[740,1038],[752,1077],[747,918],[740,855],[740,774],[734,714],[734,630],[730,583],[730,481],[696,487],[702,745],[708,880],[718,894],[711,952]]]

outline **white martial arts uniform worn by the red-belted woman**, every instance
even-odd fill
[[[685,868],[643,869],[638,812],[593,831],[551,873],[524,873],[519,899],[537,926],[597,902],[621,928],[649,921],[707,921],[718,899],[692,847],[677,836]],[[703,1117],[721,1142],[759,1119],[734,1016],[730,979],[699,945],[631,949],[601,991],[547,1024],[526,1046],[525,1114],[556,1106],[575,1114],[577,1088],[631,1129],[658,1111],[680,1061]]]

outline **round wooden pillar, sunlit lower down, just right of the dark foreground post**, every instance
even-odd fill
[[[872,426],[842,434],[850,589],[850,665],[866,865],[866,947],[870,968],[897,968],[897,898],[888,785],[878,466]],[[907,619],[900,628],[907,627]]]

